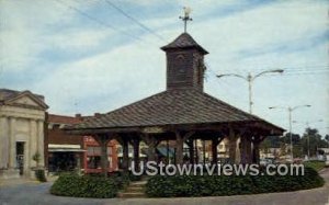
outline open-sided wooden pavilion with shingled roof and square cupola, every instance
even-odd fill
[[[182,33],[161,47],[167,55],[167,89],[115,111],[89,117],[66,129],[93,136],[102,146],[102,166],[106,173],[106,144],[116,139],[123,146],[124,169],[128,169],[128,144],[139,163],[139,143],[148,146],[148,160],[155,161],[160,141],[175,141],[175,163],[183,163],[183,145],[189,146],[190,162],[195,163],[196,139],[212,141],[212,162],[217,163],[217,146],[229,140],[231,163],[259,161],[259,145],[266,136],[280,136],[284,129],[256,115],[236,109],[204,92],[204,56],[208,54],[190,34]]]

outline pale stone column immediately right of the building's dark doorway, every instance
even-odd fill
[[[36,167],[33,156],[37,152],[37,125],[35,119],[30,119],[30,157],[27,160],[29,167]]]

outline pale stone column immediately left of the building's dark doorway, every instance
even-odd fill
[[[16,168],[15,122],[16,119],[14,117],[9,118],[9,169]]]

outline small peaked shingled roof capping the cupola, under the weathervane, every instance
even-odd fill
[[[201,45],[198,45],[193,37],[188,33],[182,33],[178,36],[173,42],[168,44],[167,46],[162,46],[162,50],[175,49],[175,48],[192,48],[195,47],[201,50],[203,54],[208,54]]]

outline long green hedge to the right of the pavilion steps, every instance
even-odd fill
[[[319,187],[322,178],[310,168],[304,175],[156,175],[148,180],[149,197],[224,196],[288,192]]]

